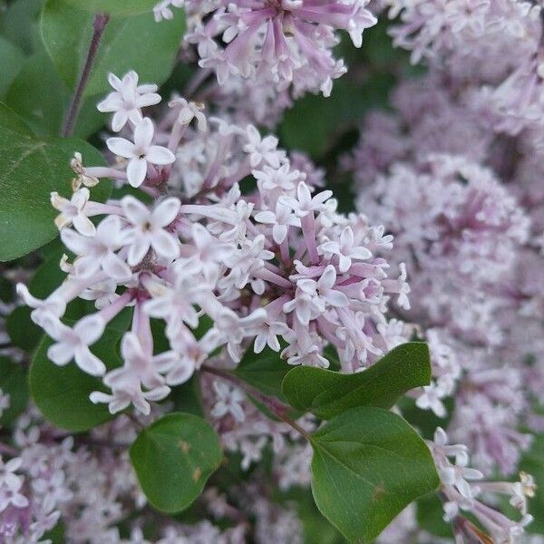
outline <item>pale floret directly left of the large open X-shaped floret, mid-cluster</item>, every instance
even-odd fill
[[[121,219],[109,216],[96,228],[93,237],[84,237],[70,228],[61,232],[66,248],[80,257],[74,262],[78,277],[90,277],[101,268],[116,279],[131,277],[131,268],[114,251],[121,248]]]

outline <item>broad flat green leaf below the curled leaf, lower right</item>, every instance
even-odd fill
[[[425,442],[382,408],[352,408],[310,442],[317,508],[353,542],[374,541],[408,504],[439,485]]]

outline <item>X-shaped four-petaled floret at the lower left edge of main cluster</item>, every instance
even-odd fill
[[[94,344],[104,332],[105,323],[101,316],[85,316],[70,328],[48,315],[44,316],[42,326],[56,342],[47,350],[47,356],[54,364],[63,366],[74,359],[75,364],[87,374],[100,376],[106,372],[105,365],[89,349],[89,345]]]

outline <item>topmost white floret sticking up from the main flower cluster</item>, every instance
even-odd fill
[[[99,112],[113,112],[112,131],[121,131],[127,121],[138,124],[141,121],[141,108],[160,102],[157,85],[138,85],[138,74],[134,71],[126,73],[121,80],[110,73],[108,81],[115,91],[96,107]]]

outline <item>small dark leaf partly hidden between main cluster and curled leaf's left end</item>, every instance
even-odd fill
[[[250,345],[233,374],[253,385],[261,393],[287,402],[281,391],[281,384],[290,369],[287,361],[268,346],[260,354],[256,354],[253,352],[253,345]]]

